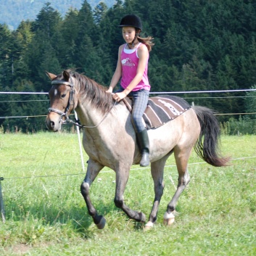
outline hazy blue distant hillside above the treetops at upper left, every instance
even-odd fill
[[[88,0],[92,9],[103,1],[111,7],[115,0]],[[47,2],[63,16],[70,7],[80,9],[84,0],[0,0],[0,23],[6,23],[10,29],[16,29],[22,20],[35,20],[36,15]]]

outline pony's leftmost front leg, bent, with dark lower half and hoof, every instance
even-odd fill
[[[102,215],[98,215],[94,205],[91,203],[91,199],[89,196],[89,190],[91,183],[94,182],[94,179],[99,174],[99,171],[104,168],[103,165],[99,164],[99,162],[95,162],[94,160],[88,160],[88,167],[86,172],[86,178],[84,178],[83,183],[80,186],[81,194],[83,195],[83,199],[86,201],[86,206],[88,209],[89,215],[94,219],[94,223],[99,229],[104,228],[106,220]]]

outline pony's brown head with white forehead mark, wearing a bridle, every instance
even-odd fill
[[[59,131],[62,123],[65,123],[70,112],[78,104],[77,95],[74,88],[75,79],[67,70],[60,75],[46,72],[51,79],[51,89],[49,91],[50,107],[46,117],[46,127],[50,131]]]

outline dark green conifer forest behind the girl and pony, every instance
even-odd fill
[[[45,70],[59,74],[68,68],[108,86],[123,44],[118,25],[130,13],[141,17],[141,36],[154,37],[152,92],[256,88],[254,0],[117,0],[110,8],[100,2],[94,9],[85,0],[65,17],[47,2],[36,20],[23,20],[16,30],[0,25],[0,91],[48,92]],[[256,112],[255,91],[176,96],[220,113]],[[0,94],[0,117],[46,115],[48,107],[47,95]],[[41,131],[44,118],[1,118],[0,127]]]

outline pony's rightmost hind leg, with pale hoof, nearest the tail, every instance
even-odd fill
[[[176,193],[168,204],[167,211],[165,212],[164,223],[167,225],[171,225],[174,222],[175,216],[173,215],[173,212],[176,209],[178,198],[190,181],[189,171],[187,169],[190,154],[191,149],[189,148],[180,149],[179,147],[176,147],[176,149],[174,149],[174,156],[178,169],[178,186]]]

